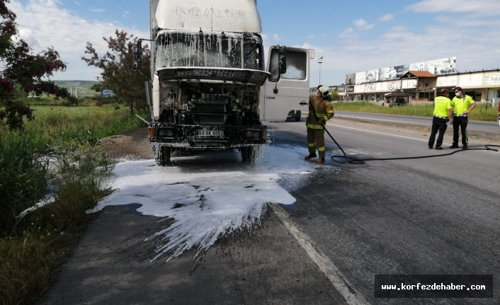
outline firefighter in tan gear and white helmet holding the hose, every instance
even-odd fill
[[[324,163],[326,147],[324,146],[324,125],[327,120],[334,117],[334,107],[331,105],[329,97],[330,88],[328,86],[319,86],[316,97],[309,100],[309,116],[305,122],[307,126],[307,146],[309,146],[309,155],[304,159],[316,158],[316,149],[319,152],[319,158],[316,163]]]

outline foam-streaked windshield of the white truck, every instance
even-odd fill
[[[168,33],[157,40],[155,67],[263,70],[262,38],[255,34]]]

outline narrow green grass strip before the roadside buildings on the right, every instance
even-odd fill
[[[348,102],[348,103],[333,103],[334,109],[339,111],[351,111],[358,113],[385,113],[390,115],[414,115],[419,117],[432,117],[434,108],[433,105],[403,105],[382,107],[382,103],[363,103],[363,102]],[[498,110],[486,105],[478,105],[469,115],[470,120],[480,120],[488,122],[496,122]]]

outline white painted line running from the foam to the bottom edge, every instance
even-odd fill
[[[316,265],[318,265],[319,270],[322,270],[324,275],[328,277],[331,284],[334,285],[335,289],[346,299],[349,305],[369,305],[368,301],[365,300],[362,294],[356,290],[352,284],[348,282],[346,277],[342,274],[339,268],[334,265],[334,263],[329,260],[328,256],[316,246],[311,238],[305,234],[293,221],[288,217],[288,214],[279,205],[271,205],[271,208],[278,216],[278,218],[283,222],[286,229],[297,239],[298,243],[309,255]]]

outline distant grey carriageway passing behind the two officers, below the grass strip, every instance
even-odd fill
[[[414,117],[408,115],[385,115],[379,113],[350,113],[347,111],[335,111],[337,117],[350,117],[363,120],[374,120],[380,122],[398,122],[413,125],[432,125],[430,117]],[[482,122],[470,120],[467,125],[468,130],[477,132],[500,133],[500,126],[496,122]]]

